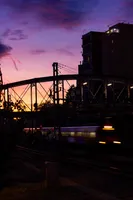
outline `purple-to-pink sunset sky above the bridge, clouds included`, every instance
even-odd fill
[[[4,82],[52,75],[53,62],[76,73],[82,35],[120,21],[133,23],[133,0],[0,0]]]

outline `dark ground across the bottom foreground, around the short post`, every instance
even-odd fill
[[[0,200],[133,199],[132,175],[121,174],[117,170],[97,168],[89,164],[89,161],[85,162],[82,159],[81,162],[81,159],[77,160],[77,158],[75,164],[69,161],[60,164],[59,185],[55,184],[56,187],[47,188],[45,161],[48,157],[48,153],[42,156],[15,150],[1,176],[3,184]],[[109,165],[115,168],[114,163],[111,165],[110,162]]]

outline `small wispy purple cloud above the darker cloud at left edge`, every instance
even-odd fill
[[[16,29],[16,30],[11,30],[11,29],[6,29],[2,37],[6,37],[9,40],[25,40],[28,38],[27,35],[23,33],[23,30],[21,29]]]

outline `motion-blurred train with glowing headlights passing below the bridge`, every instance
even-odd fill
[[[120,145],[122,140],[111,123],[111,118],[106,118],[100,125],[60,127],[62,141],[76,144]],[[48,140],[58,139],[58,132],[54,127],[25,128],[24,131],[41,132]]]

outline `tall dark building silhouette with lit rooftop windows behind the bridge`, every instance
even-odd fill
[[[133,24],[118,23],[105,32],[82,36],[79,74],[133,78]]]

